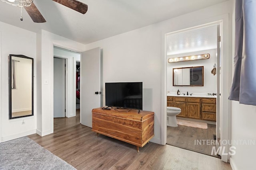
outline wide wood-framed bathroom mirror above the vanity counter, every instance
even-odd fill
[[[204,66],[172,69],[173,86],[204,86]]]

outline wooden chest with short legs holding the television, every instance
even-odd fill
[[[92,131],[143,147],[154,137],[154,112],[128,110],[92,109]]]

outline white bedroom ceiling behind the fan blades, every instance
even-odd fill
[[[46,23],[34,23],[26,11],[0,1],[0,21],[39,32],[41,29],[80,43],[91,43],[228,0],[80,0],[80,14],[52,0],[34,0]]]

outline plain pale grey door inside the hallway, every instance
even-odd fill
[[[66,117],[66,59],[54,57],[54,118]]]

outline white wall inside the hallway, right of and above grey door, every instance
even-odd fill
[[[76,61],[80,61],[80,53],[54,46],[54,56],[67,60],[67,117],[76,116]]]

